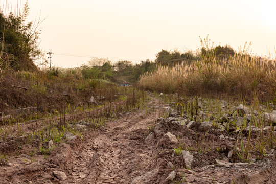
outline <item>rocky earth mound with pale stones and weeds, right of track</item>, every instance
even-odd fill
[[[254,180],[261,173],[271,173],[270,168],[276,166],[274,149],[266,149],[266,154],[261,155],[263,159],[260,159],[258,151],[252,149],[245,161],[239,155],[245,154],[245,150],[237,140],[242,136],[246,142],[249,131],[253,143],[260,132],[275,136],[276,111],[252,111],[242,104],[229,107],[225,101],[218,105],[221,112],[208,111],[202,99],[198,101],[200,111],[194,116],[170,107],[171,116],[158,118],[145,139],[155,145],[153,154],[156,161],[152,170],[135,178],[132,183],[142,178],[147,178],[147,181],[159,178],[155,180],[159,183],[229,183],[242,177]],[[251,177],[252,173],[254,177]]]

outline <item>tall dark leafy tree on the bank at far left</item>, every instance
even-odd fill
[[[2,48],[1,51],[10,57],[10,65],[19,70],[36,70],[34,59],[41,56],[42,52],[38,47],[39,31],[38,24],[33,22],[26,24],[29,14],[28,1],[24,6],[23,13],[14,15],[10,12],[4,15],[0,9],[0,34]]]

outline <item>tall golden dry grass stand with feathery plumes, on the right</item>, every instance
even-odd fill
[[[191,65],[161,66],[141,76],[139,87],[162,93],[200,95],[228,93],[241,99],[274,100],[276,97],[276,60],[260,60],[237,54],[220,61],[212,53]]]

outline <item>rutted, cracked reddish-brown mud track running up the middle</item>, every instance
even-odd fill
[[[109,123],[102,132],[85,143],[73,162],[76,183],[127,183],[141,172],[149,171],[154,145],[145,141],[152,126],[166,106],[151,102],[147,112],[130,113]]]

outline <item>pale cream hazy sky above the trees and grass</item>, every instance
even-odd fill
[[[207,34],[215,45],[238,51],[251,41],[252,53],[268,55],[270,48],[275,55],[275,7],[274,0],[29,0],[29,20],[40,12],[46,18],[40,47],[54,53],[53,65],[76,67],[90,59],[58,53],[154,60],[162,49],[195,51]]]

